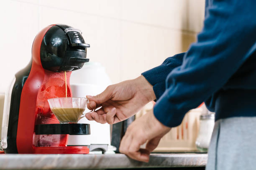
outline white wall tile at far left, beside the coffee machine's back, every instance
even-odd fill
[[[5,92],[14,74],[31,60],[31,48],[38,33],[38,5],[3,1],[0,10],[0,92]]]

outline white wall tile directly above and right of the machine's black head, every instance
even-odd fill
[[[77,17],[79,15],[79,18]],[[78,28],[90,48],[91,62],[105,66],[113,83],[120,82],[120,21],[51,7],[40,8],[40,29],[62,23]]]

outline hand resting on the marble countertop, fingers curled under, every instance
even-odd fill
[[[161,138],[171,128],[159,122],[153,110],[134,120],[123,136],[119,151],[132,159],[148,162],[149,154],[157,147]],[[146,143],[146,148],[140,146]]]

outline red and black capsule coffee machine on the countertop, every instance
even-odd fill
[[[16,73],[5,95],[2,146],[5,153],[89,153],[87,146],[67,146],[68,135],[90,135],[89,124],[60,124],[47,99],[72,97],[69,77],[88,62],[82,32],[49,25],[36,35],[32,60]],[[82,77],[81,77],[82,78]]]

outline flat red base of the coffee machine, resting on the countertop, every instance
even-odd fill
[[[88,154],[87,146],[35,147],[36,154]]]

